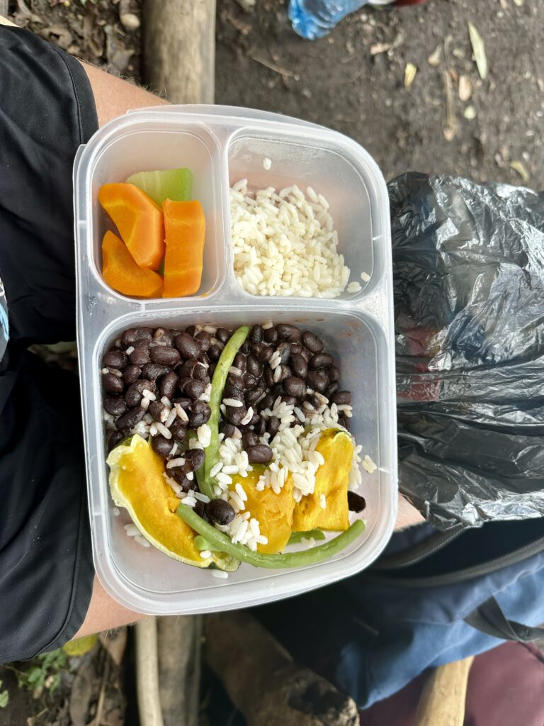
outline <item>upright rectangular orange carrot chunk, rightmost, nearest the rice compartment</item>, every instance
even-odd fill
[[[163,298],[194,295],[202,280],[206,234],[204,210],[199,202],[162,203],[165,216],[165,285]]]

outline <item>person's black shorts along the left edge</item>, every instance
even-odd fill
[[[78,379],[30,343],[75,340],[72,166],[98,128],[81,64],[0,25],[0,663],[78,631],[94,569]]]

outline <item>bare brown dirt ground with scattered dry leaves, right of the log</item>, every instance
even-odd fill
[[[314,42],[292,33],[287,0],[257,0],[249,12],[243,6],[218,3],[217,103],[342,131],[371,152],[387,179],[451,172],[544,188],[542,0],[363,8]],[[472,57],[468,21],[485,41],[486,81]],[[417,73],[406,90],[408,63]]]

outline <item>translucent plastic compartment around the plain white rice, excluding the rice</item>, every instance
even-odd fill
[[[375,258],[374,250],[374,237],[382,232],[379,214],[382,200],[378,200],[382,189],[376,188],[376,170],[366,164],[366,152],[353,142],[346,144],[349,139],[340,134],[331,131],[323,134],[321,129],[312,129],[308,131],[312,136],[304,136],[296,127],[289,131],[281,136],[263,131],[258,136],[245,132],[235,136],[228,149],[229,184],[247,179],[250,192],[266,187],[274,187],[279,192],[296,184],[308,201],[307,187],[323,195],[338,233],[337,251],[350,268],[349,282],[360,285],[357,292],[345,290],[334,299],[355,301],[365,294],[373,276],[379,277],[383,269],[382,260]],[[266,159],[271,162],[268,171],[264,166]],[[231,229],[227,234],[231,234]],[[232,250],[229,252],[229,271],[234,276],[234,254]],[[374,281],[371,286],[374,287]],[[255,295],[251,297],[255,299]],[[300,295],[294,293],[292,297]]]

